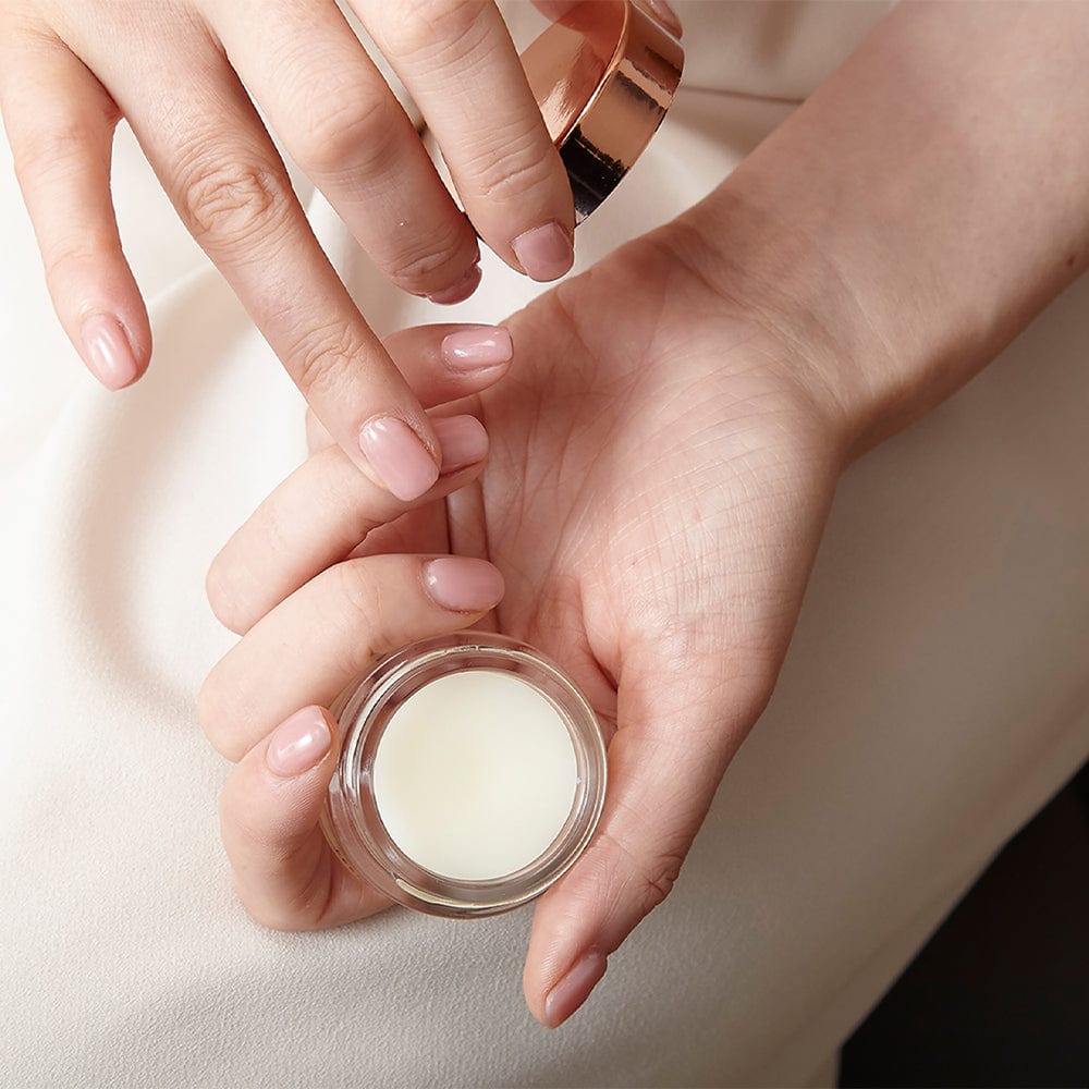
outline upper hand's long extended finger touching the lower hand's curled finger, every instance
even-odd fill
[[[234,72],[191,24],[160,26],[143,9],[137,14],[146,19],[139,29],[148,54],[163,58],[156,94],[138,93],[138,82],[119,68],[124,54],[91,42],[88,63],[130,119],[189,232],[329,432],[395,495],[421,495],[439,475],[430,423],[318,245]],[[184,41],[164,38],[183,30]],[[186,66],[176,68],[175,58]]]

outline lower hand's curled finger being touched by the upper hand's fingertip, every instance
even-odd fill
[[[473,416],[439,419],[443,466],[438,484],[406,505],[371,484],[338,446],[303,463],[223,546],[208,571],[208,601],[224,627],[242,634],[380,526],[467,484],[488,454]]]

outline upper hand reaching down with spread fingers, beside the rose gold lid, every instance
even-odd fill
[[[110,196],[124,117],[326,427],[415,499],[438,476],[436,436],[257,109],[391,280],[439,303],[479,281],[474,228],[512,267],[562,276],[574,211],[494,3],[351,7],[427,117],[468,219],[333,0],[0,0],[0,109],[58,316],[107,387],[138,378],[151,347]]]

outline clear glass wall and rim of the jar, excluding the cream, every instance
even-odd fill
[[[514,676],[543,697],[567,731],[575,767],[571,808],[551,844],[521,868],[485,879],[438,872],[409,857],[383,823],[375,788],[376,757],[399,710],[431,682],[474,670]],[[607,779],[601,727],[574,683],[533,647],[484,632],[427,639],[378,661],[331,710],[340,722],[341,755],[322,829],[350,870],[399,904],[453,917],[511,910],[553,884],[594,835]],[[510,730],[518,725],[511,721]],[[521,770],[524,774],[527,769]],[[510,815],[497,815],[501,819]]]

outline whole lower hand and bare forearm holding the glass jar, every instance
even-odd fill
[[[537,904],[525,968],[542,1023],[582,1004],[774,686],[844,465],[1086,267],[1087,33],[1078,5],[902,5],[707,200],[511,319],[510,376],[443,409],[485,423],[479,479],[402,517],[365,494],[331,510],[328,448],[240,530],[209,589],[246,634],[201,717],[241,759],[223,837],[259,919],[382,906],[316,829],[335,724],[311,707],[289,774],[277,724],[360,654],[484,620],[559,660],[612,734],[601,832]],[[465,558],[453,609],[420,555],[444,551]],[[491,612],[481,558],[505,580]],[[323,664],[284,663],[289,637]]]

